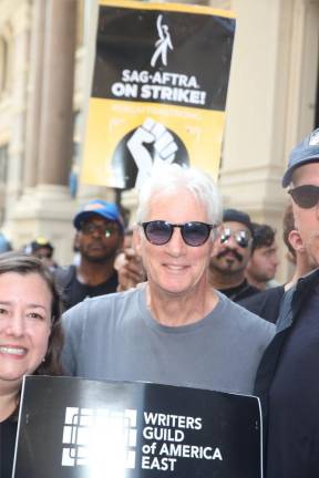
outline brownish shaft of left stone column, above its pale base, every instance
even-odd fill
[[[76,0],[47,0],[38,184],[68,185],[73,142]]]

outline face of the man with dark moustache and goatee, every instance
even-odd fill
[[[225,241],[223,241],[223,229],[229,236]],[[251,253],[251,233],[245,225],[235,221],[224,222],[223,229],[214,245],[210,267],[225,276],[243,272],[244,280],[245,269]],[[243,247],[245,241],[241,243],[239,240],[241,236],[248,238],[246,247]]]

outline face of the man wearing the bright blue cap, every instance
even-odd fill
[[[76,235],[81,256],[91,262],[115,258],[122,241],[123,236],[117,222],[103,219],[99,215],[92,215],[84,221]]]

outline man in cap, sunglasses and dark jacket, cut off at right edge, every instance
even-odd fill
[[[301,243],[317,269],[290,288],[256,393],[268,428],[267,478],[319,477],[319,128],[289,156],[282,186]]]

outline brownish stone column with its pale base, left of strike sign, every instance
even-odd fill
[[[34,75],[41,83],[38,74],[42,71],[41,102],[33,97],[29,111],[31,116],[39,114],[38,138],[34,131],[29,136],[28,166],[32,170],[25,173],[25,186],[34,187],[32,194],[27,195],[28,200],[22,196],[17,204],[11,236],[14,236],[16,247],[37,236],[45,236],[55,247],[55,259],[64,264],[70,262],[73,253],[72,219],[76,209],[68,188],[73,143],[76,0],[40,0],[35,3],[42,3],[35,4],[39,9],[35,17],[40,21],[39,15],[44,15],[44,42],[42,65],[38,63],[40,50],[38,58],[30,55],[31,77]],[[32,143],[32,136],[35,142],[38,139],[39,149]],[[38,160],[37,156],[30,156],[32,149]]]

